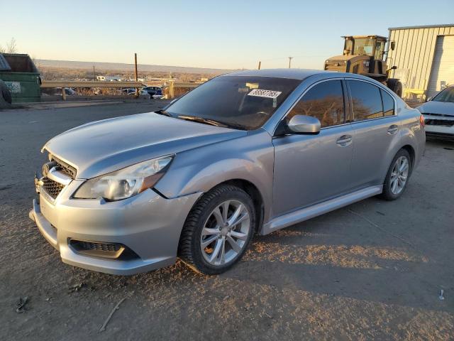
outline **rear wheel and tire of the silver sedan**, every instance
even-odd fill
[[[406,164],[406,168],[402,168]],[[401,167],[403,171],[399,171]],[[402,176],[401,176],[402,175]],[[411,157],[408,151],[401,149],[392,159],[386,178],[383,183],[383,193],[381,197],[385,200],[396,200],[404,193],[406,185],[409,183],[411,175]],[[402,184],[403,179],[404,183]]]

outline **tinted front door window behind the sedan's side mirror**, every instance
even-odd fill
[[[322,128],[345,123],[341,80],[328,80],[312,87],[289,112],[287,124],[295,115],[316,117]]]

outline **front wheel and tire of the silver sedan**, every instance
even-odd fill
[[[227,219],[223,207],[228,207]],[[232,219],[236,213],[236,220]],[[220,226],[228,220],[233,224]],[[233,185],[219,185],[204,194],[189,212],[179,238],[178,256],[196,272],[221,274],[243,257],[255,224],[255,208],[248,193]]]

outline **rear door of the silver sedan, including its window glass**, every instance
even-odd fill
[[[353,110],[352,179],[355,188],[380,185],[399,140],[400,119],[387,90],[363,80],[347,80]]]

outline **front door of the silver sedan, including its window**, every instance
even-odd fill
[[[342,80],[312,85],[284,118],[296,114],[316,117],[316,135],[275,136],[273,215],[336,197],[349,190],[353,131],[345,116],[346,88]]]

